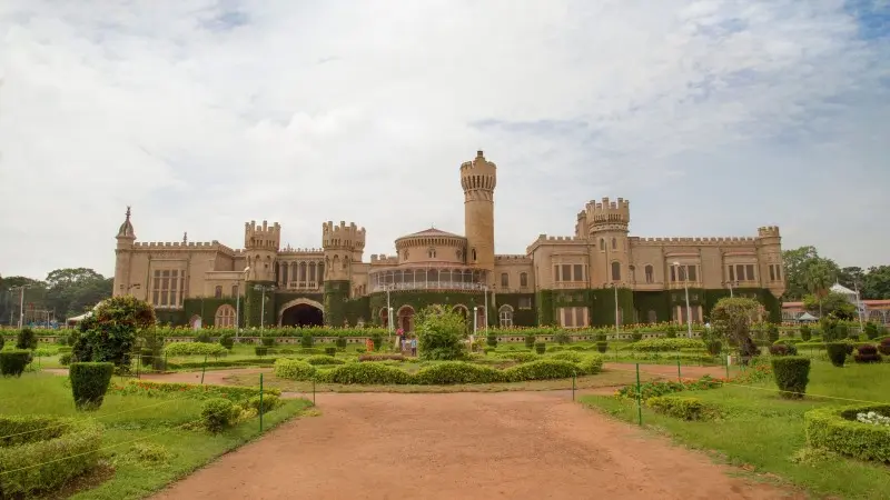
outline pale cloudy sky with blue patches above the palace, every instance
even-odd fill
[[[365,260],[463,233],[497,163],[497,253],[590,200],[641,237],[755,236],[887,264],[888,0],[0,2],[0,274],[110,276],[138,241],[244,223]]]

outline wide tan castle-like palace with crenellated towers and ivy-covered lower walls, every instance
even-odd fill
[[[731,293],[781,319],[779,228],[753,237],[631,236],[630,202],[590,201],[572,236],[541,234],[524,254],[495,252],[497,167],[482,151],[459,169],[464,234],[429,228],[364,258],[365,228],[324,222],[322,248],[281,248],[276,222],[245,223],[244,248],[218,241],[139,242],[127,209],[117,234],[115,294],[151,302],[160,321],[197,327],[388,326],[412,330],[427,306],[479,326],[581,328],[703,321]],[[689,290],[689,308],[686,307]],[[387,303],[389,304],[387,308]],[[486,314],[487,306],[487,314]]]

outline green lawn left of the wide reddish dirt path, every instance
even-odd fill
[[[0,378],[0,393],[3,394],[0,413],[96,418],[105,426],[103,467],[78,480],[69,490],[52,492],[51,498],[142,498],[260,434],[258,419],[219,434],[181,429],[200,416],[201,401],[194,399],[109,394],[98,411],[78,412],[68,379],[51,374]],[[285,400],[281,407],[264,416],[264,430],[299,414],[310,404],[303,399]]]

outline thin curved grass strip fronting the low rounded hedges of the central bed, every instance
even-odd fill
[[[641,380],[653,380],[660,376],[643,373]],[[575,388],[578,390],[614,388],[626,386],[636,380],[636,376],[626,371],[603,370],[595,376],[578,377]],[[234,386],[259,386],[259,373],[233,374],[226,378]],[[263,382],[268,388],[284,392],[308,393],[313,391],[313,382],[280,379],[273,373],[264,373]],[[504,392],[504,391],[552,391],[571,390],[572,379],[535,380],[510,383],[464,383],[454,386],[360,386],[340,383],[316,383],[316,392]]]

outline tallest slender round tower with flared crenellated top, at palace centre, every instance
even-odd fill
[[[464,189],[464,236],[467,263],[487,271],[487,284],[494,284],[494,188],[497,166],[476,151],[473,161],[461,164]]]

